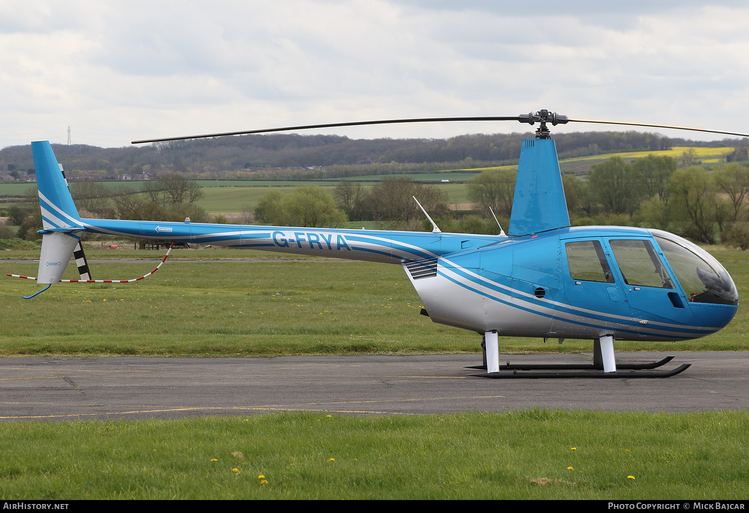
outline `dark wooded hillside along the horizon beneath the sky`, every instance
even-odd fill
[[[349,139],[345,136],[270,134],[169,142],[148,146],[99,148],[52,145],[66,171],[141,174],[149,171],[202,172],[236,169],[319,168],[372,164],[418,164],[416,171],[475,168],[517,163],[521,140],[532,133],[469,134],[451,139]],[[574,132],[554,136],[560,159],[614,151],[657,151],[673,145],[736,146],[744,139],[693,142],[655,133]],[[29,145],[0,150],[0,170],[33,169]],[[376,167],[376,166],[375,166]],[[389,168],[389,166],[385,166]],[[334,171],[333,169],[331,171]],[[387,169],[392,172],[392,169]],[[356,175],[349,172],[345,175]],[[375,173],[378,171],[375,170]],[[344,175],[344,174],[342,174]]]

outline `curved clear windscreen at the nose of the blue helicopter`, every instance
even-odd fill
[[[655,229],[649,231],[661,246],[690,302],[739,304],[736,284],[712,255],[678,235]]]

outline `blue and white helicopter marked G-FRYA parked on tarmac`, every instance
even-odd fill
[[[670,377],[689,365],[671,371],[653,370],[673,356],[658,362],[617,365],[614,342],[697,339],[718,332],[736,315],[739,293],[733,279],[700,246],[656,229],[571,226],[557,149],[548,124],[577,121],[746,134],[576,119],[542,109],[518,116],[357,121],[145,139],[133,144],[430,121],[539,123],[535,138],[524,139],[521,145],[507,233],[501,227],[499,235],[443,233],[423,207],[433,227],[431,233],[222,225],[190,222],[189,218],[184,222],[82,219],[51,145],[40,141],[31,143],[43,218],[39,271],[37,277],[7,276],[34,279],[39,284],[48,284],[46,288],[58,282],[135,282],[148,276],[122,281],[91,279],[80,244],[82,232],[172,241],[172,246],[202,243],[398,264],[422,301],[422,315],[434,323],[482,336],[483,364],[470,368],[484,372],[470,375],[490,378]],[[417,198],[414,200],[419,203]],[[80,280],[61,279],[71,255],[79,267]],[[164,261],[166,257],[161,264]],[[593,362],[585,365],[507,362],[500,368],[501,336],[558,339],[560,344],[565,339],[592,340]]]

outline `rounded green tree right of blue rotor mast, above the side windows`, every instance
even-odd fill
[[[608,213],[633,214],[642,196],[639,174],[621,157],[591,166],[588,182],[595,198]]]

